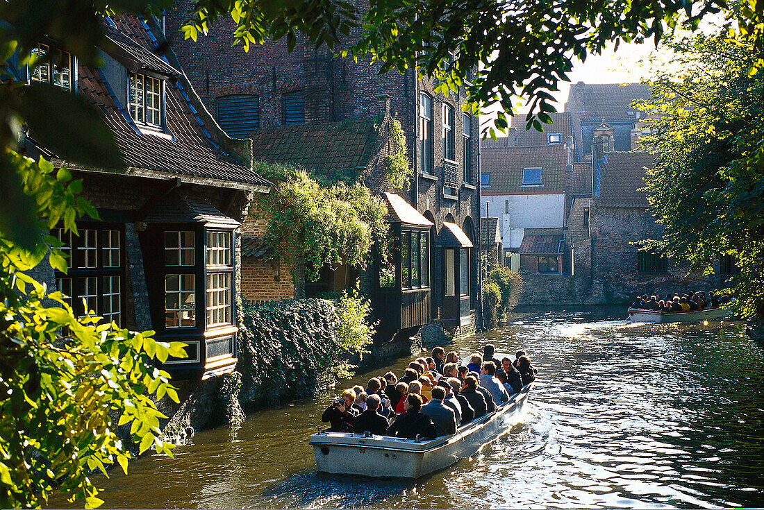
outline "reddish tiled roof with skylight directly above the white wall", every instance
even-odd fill
[[[519,192],[564,192],[568,152],[562,145],[545,147],[484,147],[481,173],[490,173],[484,195]],[[523,168],[541,168],[542,186],[522,186]]]

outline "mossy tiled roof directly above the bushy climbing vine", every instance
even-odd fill
[[[373,121],[264,127],[252,136],[254,160],[292,163],[316,173],[365,168],[374,150]]]

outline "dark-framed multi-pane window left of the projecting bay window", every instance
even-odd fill
[[[79,236],[54,228],[50,232],[62,243],[69,272],[56,272],[56,285],[76,315],[92,311],[104,322],[121,323],[124,269],[121,260],[123,233],[117,226],[80,225]],[[83,306],[85,299],[86,307]]]

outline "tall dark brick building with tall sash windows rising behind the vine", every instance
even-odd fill
[[[395,227],[408,243],[401,251],[409,266],[403,266],[401,260],[397,268],[402,302],[426,290],[431,297],[429,313],[417,315],[416,321],[439,318],[449,328],[473,327],[481,292],[479,250],[473,249],[480,235],[479,122],[461,111],[465,90],[445,97],[433,91],[432,80],[417,79],[413,69],[380,75],[378,64],[333,56],[304,40],[298,40],[291,54],[283,40],[267,41],[245,53],[241,46],[231,47],[232,24],[226,21],[220,21],[196,43],[186,41],[179,29],[188,5],[179,2],[176,11],[168,13],[167,39],[202,101],[232,136],[247,136],[238,128],[245,124],[253,128],[257,145],[260,131],[265,136],[270,129],[280,130],[288,137],[288,129],[299,124],[305,124],[307,132],[323,131],[325,127],[309,127],[319,124],[362,123],[378,117],[380,96],[389,97],[390,115],[403,127],[413,176],[404,190],[391,189],[384,179],[375,181],[373,172],[364,181],[380,196],[384,192],[399,195],[433,224],[426,236],[426,260],[416,262],[418,268],[426,263],[427,273],[432,275],[426,286],[421,276],[414,285],[410,265],[412,239],[421,240],[422,225]],[[381,140],[387,144],[384,133]],[[270,157],[267,150],[263,157]],[[454,235],[453,226],[463,235]],[[417,252],[421,254],[421,247]],[[331,283],[332,276],[327,278]],[[367,281],[372,294],[386,292],[378,286],[378,277],[370,276]],[[422,324],[398,329],[411,334]]]

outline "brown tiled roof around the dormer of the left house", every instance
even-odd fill
[[[140,20],[127,15],[112,20],[123,33],[123,37],[129,36],[134,42],[131,48],[136,54],[153,54],[154,50],[147,49],[148,45],[154,44],[151,34]],[[153,65],[159,66],[157,60],[163,62],[157,56]],[[130,118],[126,105],[118,101],[99,69],[79,66],[77,72],[79,95],[102,111],[106,123],[115,135],[128,173],[176,174],[213,181],[241,182],[262,189],[272,186],[267,179],[257,175],[249,166],[239,163],[215,144],[212,134],[199,117],[189,97],[193,91],[185,88],[180,80],[167,80],[165,86],[167,133],[147,134],[138,129]],[[41,147],[41,150],[44,150],[44,147]]]

